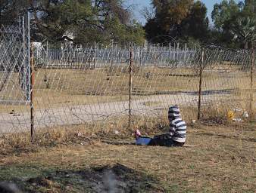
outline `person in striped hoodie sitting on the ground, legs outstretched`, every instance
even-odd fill
[[[170,106],[168,111],[169,133],[149,138],[135,131],[136,145],[147,146],[183,146],[186,142],[186,123],[182,120],[178,106]]]

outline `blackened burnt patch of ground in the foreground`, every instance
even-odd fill
[[[54,171],[47,176],[38,176],[17,182],[23,192],[155,192],[158,182],[145,173],[122,164],[93,167],[86,170]]]

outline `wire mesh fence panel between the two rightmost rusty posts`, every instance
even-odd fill
[[[209,109],[215,109],[215,113],[228,109],[251,110],[249,96],[255,89],[255,83],[251,87],[250,80],[251,65],[254,66],[251,51],[207,50],[205,54],[204,112]]]

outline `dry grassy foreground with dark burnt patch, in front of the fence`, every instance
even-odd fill
[[[255,192],[255,128],[190,125],[189,146],[179,148],[109,136],[16,149],[0,157],[0,182],[44,193]]]

